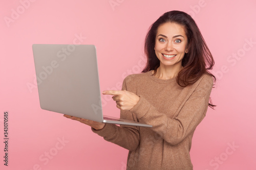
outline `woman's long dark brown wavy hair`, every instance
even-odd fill
[[[209,48],[207,47],[194,19],[182,11],[166,12],[150,27],[144,45],[147,63],[142,72],[155,70],[154,74],[156,74],[156,70],[160,66],[160,61],[156,56],[154,47],[156,43],[157,29],[160,25],[166,22],[174,22],[184,26],[188,40],[188,53],[185,53],[182,59],[183,69],[179,71],[176,77],[177,83],[181,87],[186,87],[194,84],[203,74],[212,76],[216,81],[215,76],[208,71],[214,66],[214,59],[212,58]],[[209,107],[214,108],[215,105],[212,105],[211,100],[209,101]]]

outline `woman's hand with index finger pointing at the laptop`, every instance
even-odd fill
[[[131,110],[140,100],[138,95],[126,90],[106,90],[102,94],[113,95],[112,99],[120,110]]]

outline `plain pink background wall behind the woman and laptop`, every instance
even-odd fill
[[[193,16],[216,62],[218,82],[211,98],[217,107],[208,109],[195,132],[194,169],[256,168],[254,0],[28,2],[2,0],[0,5],[1,169],[125,169],[125,149],[86,125],[40,109],[37,88],[28,87],[35,75],[32,44],[72,44],[76,35],[86,37],[82,44],[97,47],[101,91],[120,89],[125,76],[143,68],[147,29],[171,10]],[[103,112],[119,116],[115,103],[103,100]],[[4,111],[9,112],[8,167],[3,162]]]

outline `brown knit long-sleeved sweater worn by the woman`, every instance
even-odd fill
[[[212,77],[203,75],[185,88],[176,79],[162,80],[152,71],[127,76],[122,90],[140,96],[120,117],[153,125],[153,128],[106,124],[93,132],[129,150],[127,169],[193,169],[189,151],[198,124],[204,118]]]

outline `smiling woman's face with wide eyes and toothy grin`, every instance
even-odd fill
[[[166,22],[158,27],[155,52],[161,66],[180,66],[187,53],[185,28],[174,22]]]

